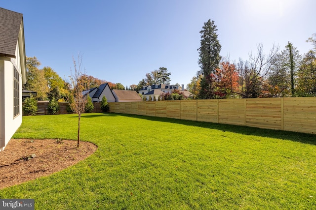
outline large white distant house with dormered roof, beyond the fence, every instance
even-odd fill
[[[149,85],[149,86],[143,86],[142,90],[139,90],[139,93],[143,95],[143,97],[146,97],[146,100],[148,101],[151,97],[152,100],[156,98],[158,100],[159,96],[165,93],[172,93],[173,90],[179,90],[180,93],[182,93],[185,97],[192,96],[192,93],[184,90],[184,85],[182,87],[178,85],[170,85],[170,84],[156,84],[156,85]]]

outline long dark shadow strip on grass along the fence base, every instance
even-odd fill
[[[108,115],[108,117],[110,116],[113,116],[113,117],[124,116],[124,117],[138,118],[138,119],[143,119],[143,120],[169,122],[169,123],[183,124],[183,125],[188,125],[188,126],[197,126],[197,127],[203,127],[203,128],[216,129],[216,130],[221,130],[224,132],[239,133],[243,135],[254,135],[254,136],[260,136],[260,137],[276,138],[276,139],[300,142],[304,144],[316,145],[316,135],[308,134],[308,133],[263,129],[263,128],[240,126],[240,125],[219,124],[219,123],[212,123],[212,122],[159,118],[159,117],[150,117],[150,116],[142,116],[142,115],[111,113]]]

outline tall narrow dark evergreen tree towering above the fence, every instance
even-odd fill
[[[200,48],[198,48],[199,59],[198,64],[200,69],[198,75],[202,75],[200,90],[198,93],[199,99],[214,98],[214,73],[218,68],[221,60],[220,51],[222,46],[219,43],[216,33],[216,25],[210,19],[204,23],[200,31],[201,40]]]

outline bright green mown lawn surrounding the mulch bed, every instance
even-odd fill
[[[76,139],[76,115],[23,117],[14,138]],[[85,114],[98,145],[66,170],[0,190],[36,209],[314,209],[316,136],[154,117]]]

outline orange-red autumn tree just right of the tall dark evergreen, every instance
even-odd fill
[[[235,64],[229,61],[221,62],[215,69],[215,94],[219,98],[235,97],[239,88],[238,72]]]

